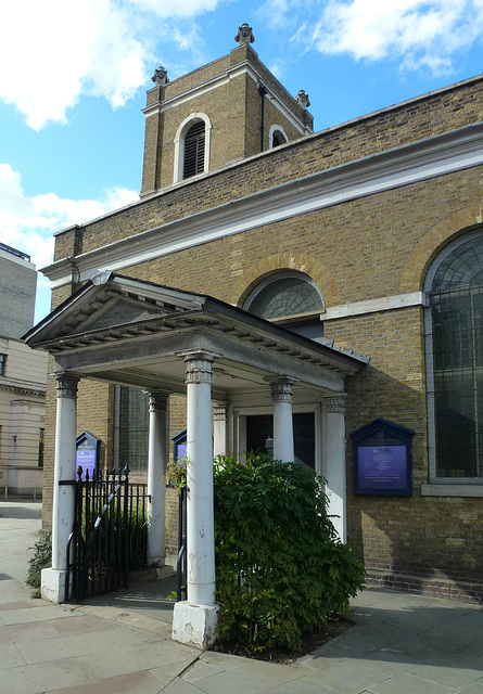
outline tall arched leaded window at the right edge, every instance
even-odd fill
[[[433,478],[483,478],[483,233],[449,244],[424,290]]]

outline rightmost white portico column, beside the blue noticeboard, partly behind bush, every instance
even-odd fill
[[[342,542],[347,541],[345,484],[345,394],[323,399],[323,477],[329,497],[329,515]]]

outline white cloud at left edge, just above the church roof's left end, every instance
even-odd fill
[[[68,200],[54,193],[27,197],[21,175],[0,164],[0,241],[31,257],[37,267],[52,262],[53,233],[100,217],[139,200],[126,189],[104,191],[100,200]]]

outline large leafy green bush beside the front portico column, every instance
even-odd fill
[[[217,459],[215,535],[220,635],[253,651],[298,647],[364,580],[336,540],[323,481],[296,463]]]

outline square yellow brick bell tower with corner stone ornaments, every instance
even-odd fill
[[[141,197],[312,134],[308,97],[294,99],[258,60],[242,24],[228,55],[148,91]],[[301,94],[303,97],[301,97]]]

